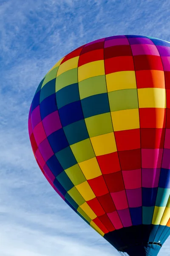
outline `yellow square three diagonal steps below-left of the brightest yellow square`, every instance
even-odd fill
[[[87,161],[79,163],[79,167],[81,168],[87,180],[90,180],[102,175],[102,172],[100,170],[96,157],[93,157]]]

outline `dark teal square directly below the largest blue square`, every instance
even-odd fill
[[[63,130],[70,145],[89,138],[84,119],[65,126]]]

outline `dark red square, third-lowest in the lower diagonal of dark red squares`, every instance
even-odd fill
[[[125,189],[123,183],[122,172],[114,172],[103,175],[108,186],[109,192],[118,192]]]

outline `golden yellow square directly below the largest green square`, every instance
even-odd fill
[[[111,112],[111,117],[114,131],[124,131],[140,128],[139,110],[137,108],[113,111]]]

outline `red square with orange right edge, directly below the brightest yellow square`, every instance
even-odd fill
[[[139,108],[140,128],[165,128],[166,109]]]

